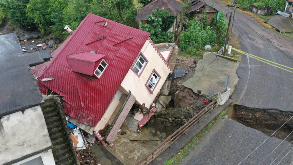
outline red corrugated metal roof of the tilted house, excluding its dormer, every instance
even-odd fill
[[[103,26],[104,21],[108,22],[107,26]],[[145,31],[90,13],[39,76],[39,79],[54,79],[38,80],[38,84],[64,96],[64,111],[69,116],[96,126],[148,37]],[[103,59],[108,63],[99,80],[71,71],[67,58],[93,50],[104,54]]]

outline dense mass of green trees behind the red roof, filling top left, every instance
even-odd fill
[[[0,25],[37,27],[42,34],[65,38],[65,25],[75,30],[91,12],[128,26],[138,27],[133,0],[0,0]]]

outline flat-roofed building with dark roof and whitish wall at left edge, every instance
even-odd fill
[[[0,164],[54,165],[52,143],[30,66],[44,63],[24,53],[15,33],[0,35]]]

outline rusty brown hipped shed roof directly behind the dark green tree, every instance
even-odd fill
[[[136,16],[136,21],[147,20],[147,16],[151,14],[156,8],[170,11],[173,16],[176,16],[180,12],[180,2],[176,0],[155,0],[142,9],[139,9]]]

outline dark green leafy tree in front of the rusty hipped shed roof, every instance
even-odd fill
[[[165,11],[163,9],[156,8],[151,13],[155,18],[161,18],[162,25],[161,29],[164,32],[167,32],[173,25],[175,16],[172,16],[172,13],[170,11]]]

